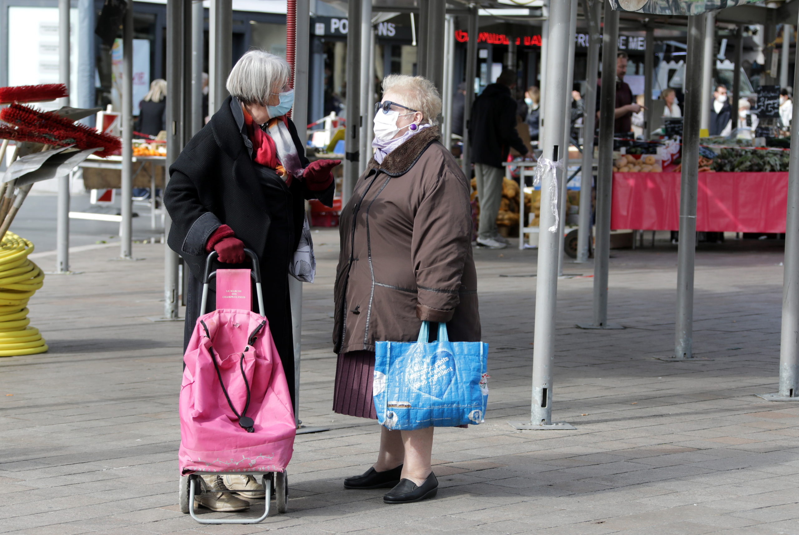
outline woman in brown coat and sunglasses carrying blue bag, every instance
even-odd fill
[[[470,187],[433,125],[439,93],[423,77],[399,74],[383,90],[375,155],[341,212],[333,333],[333,410],[373,419],[376,342],[414,342],[423,320],[447,323],[452,341],[480,339]],[[377,462],[344,488],[392,488],[389,504],[433,497],[432,445],[432,427],[381,427]]]

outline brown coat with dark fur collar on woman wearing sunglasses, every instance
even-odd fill
[[[470,187],[431,127],[382,164],[374,158],[341,212],[336,270],[337,353],[414,342],[422,320],[449,339],[479,342]]]

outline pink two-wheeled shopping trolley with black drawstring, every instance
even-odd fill
[[[258,258],[249,249],[244,252],[252,270],[220,270],[231,275],[224,278],[211,269],[217,253],[208,256],[201,315],[183,358],[179,497],[181,511],[201,524],[255,524],[268,516],[272,492],[279,513],[285,513],[288,500],[286,466],[292,458],[296,422],[280,356],[264,316]],[[247,271],[255,281],[260,314],[251,310],[250,275],[233,276]],[[215,278],[217,310],[205,314],[209,283]],[[231,299],[221,301],[227,298]],[[266,491],[263,515],[197,517],[194,497],[201,474],[255,476]]]

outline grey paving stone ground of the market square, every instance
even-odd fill
[[[438,497],[390,506],[380,489],[342,489],[374,461],[379,429],[331,411],[337,233],[314,239],[300,413],[331,430],[297,437],[288,513],[259,525],[180,513],[182,327],[147,319],[162,310],[163,246],[139,244],[136,262],[74,255],[83,273],[49,276],[30,303],[50,352],[0,359],[0,533],[799,533],[799,405],[754,395],[777,389],[779,244],[700,245],[694,347],[708,360],[693,363],[654,359],[674,344],[676,247],[613,252],[622,331],[574,328],[590,320],[593,279],[567,263],[583,276],[559,282],[553,416],[572,431],[507,424],[529,418],[536,256],[475,252],[486,422],[436,430]]]

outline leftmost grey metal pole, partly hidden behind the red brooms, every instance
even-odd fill
[[[70,0],[58,0],[58,77],[70,88]],[[59,104],[70,105],[70,97]],[[70,175],[58,177],[56,273],[70,272]]]

